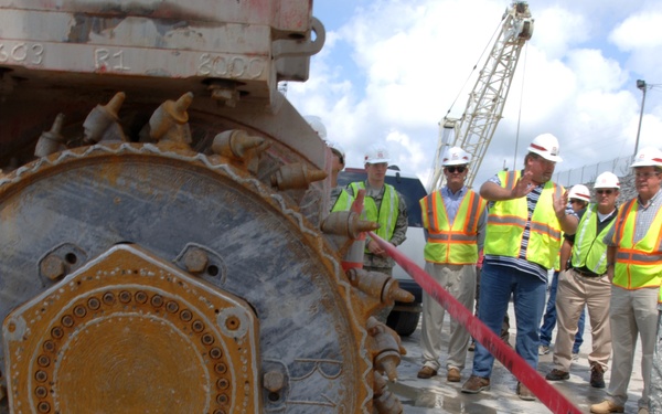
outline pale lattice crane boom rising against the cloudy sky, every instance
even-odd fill
[[[473,161],[466,184],[471,187],[488,150],[517,66],[520,53],[533,34],[533,22],[525,1],[513,1],[501,18],[501,30],[480,72],[465,113],[460,118],[444,117],[428,190],[444,184],[441,159],[449,147],[462,147]]]

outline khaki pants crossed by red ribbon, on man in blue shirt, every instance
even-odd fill
[[[426,263],[425,270],[437,280],[452,297],[458,299],[469,311],[473,309],[476,296],[476,265],[442,265]],[[441,327],[446,309],[433,297],[423,293],[423,322],[420,346],[423,362],[431,369],[439,370],[441,354]],[[450,338],[448,339],[448,359],[446,368],[455,367],[460,371],[467,360],[469,332],[455,319],[450,318]]]

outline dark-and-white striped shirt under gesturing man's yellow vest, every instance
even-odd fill
[[[524,174],[524,171],[522,171],[522,174]],[[501,187],[501,180],[499,179],[499,176],[492,177],[489,181]],[[533,211],[535,210],[535,205],[537,204],[544,188],[544,183],[540,184],[535,187],[528,194],[526,194],[526,210],[528,211],[528,214],[526,226],[524,227],[524,234],[522,235],[522,246],[517,257],[485,255],[485,263],[489,263],[490,265],[512,267],[516,270],[540,277],[543,282],[547,283],[547,269],[537,263],[528,262],[526,259],[526,246],[528,246],[528,237],[531,236],[531,216],[533,215]],[[495,201],[490,201],[488,203],[488,210],[491,209]],[[566,206],[566,214],[577,216],[570,204]]]

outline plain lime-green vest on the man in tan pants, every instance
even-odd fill
[[[613,220],[596,234],[598,230],[597,205],[591,204],[577,225],[575,245],[573,246],[573,267],[586,266],[595,274],[604,275],[607,272],[607,245],[605,235],[613,225]]]

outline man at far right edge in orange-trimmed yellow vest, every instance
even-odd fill
[[[609,396],[591,405],[591,413],[624,411],[638,336],[643,376],[638,405],[640,414],[649,413],[658,307],[662,302],[662,151],[644,148],[630,167],[639,195],[620,208],[613,227],[605,236],[607,273],[612,284],[609,319],[613,362]],[[660,381],[655,385],[660,386]]]

